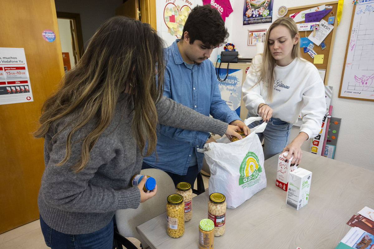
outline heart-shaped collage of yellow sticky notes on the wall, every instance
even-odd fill
[[[171,35],[175,35],[178,39],[182,37],[183,27],[190,12],[190,6],[184,5],[180,7],[179,5],[176,6],[174,3],[166,4],[164,9],[164,22]]]

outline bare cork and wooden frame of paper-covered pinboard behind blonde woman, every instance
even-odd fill
[[[300,53],[301,56],[308,60],[309,62],[313,63],[313,65],[316,66],[317,69],[324,69],[325,70],[325,76],[324,76],[324,84],[327,85],[327,80],[328,80],[328,75],[329,75],[329,68],[330,68],[330,62],[331,62],[331,56],[332,56],[332,49],[334,47],[334,39],[335,39],[335,32],[336,32],[336,27],[337,27],[337,10],[338,10],[338,1],[332,1],[332,2],[327,2],[327,3],[319,3],[319,4],[310,4],[310,5],[305,5],[305,6],[300,6],[300,7],[292,7],[288,8],[288,12],[286,16],[290,16],[294,13],[301,12],[303,10],[307,9],[312,9],[314,7],[318,7],[321,5],[325,6],[332,6],[332,9],[327,15],[325,15],[322,19],[324,19],[326,22],[328,21],[328,18],[331,16],[335,16],[334,28],[332,31],[327,35],[325,38],[325,46],[326,48],[322,50],[321,46],[315,46],[313,47],[313,50],[317,53],[317,55],[324,55],[324,60],[322,64],[314,64],[314,59],[308,54],[304,53],[304,48],[300,48]],[[297,24],[304,23],[304,21],[301,22],[296,22]],[[313,31],[299,31],[300,37],[308,37]]]

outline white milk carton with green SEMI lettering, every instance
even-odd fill
[[[298,168],[289,173],[286,204],[299,210],[308,204],[312,172]]]

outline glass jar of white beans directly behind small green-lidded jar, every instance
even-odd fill
[[[208,218],[214,222],[214,236],[225,232],[226,197],[221,193],[212,193],[208,201]]]

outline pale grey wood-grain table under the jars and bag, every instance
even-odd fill
[[[355,155],[347,155],[347,162]],[[312,171],[309,203],[296,211],[275,186],[278,156],[264,163],[267,187],[226,211],[226,231],[215,249],[334,249],[349,231],[347,221],[364,206],[374,208],[374,171],[303,152],[299,167]],[[199,248],[199,222],[208,218],[208,191],[192,199],[192,219],[178,239],[166,234],[166,212],[137,227],[153,249]],[[166,203],[165,203],[166,205]]]

